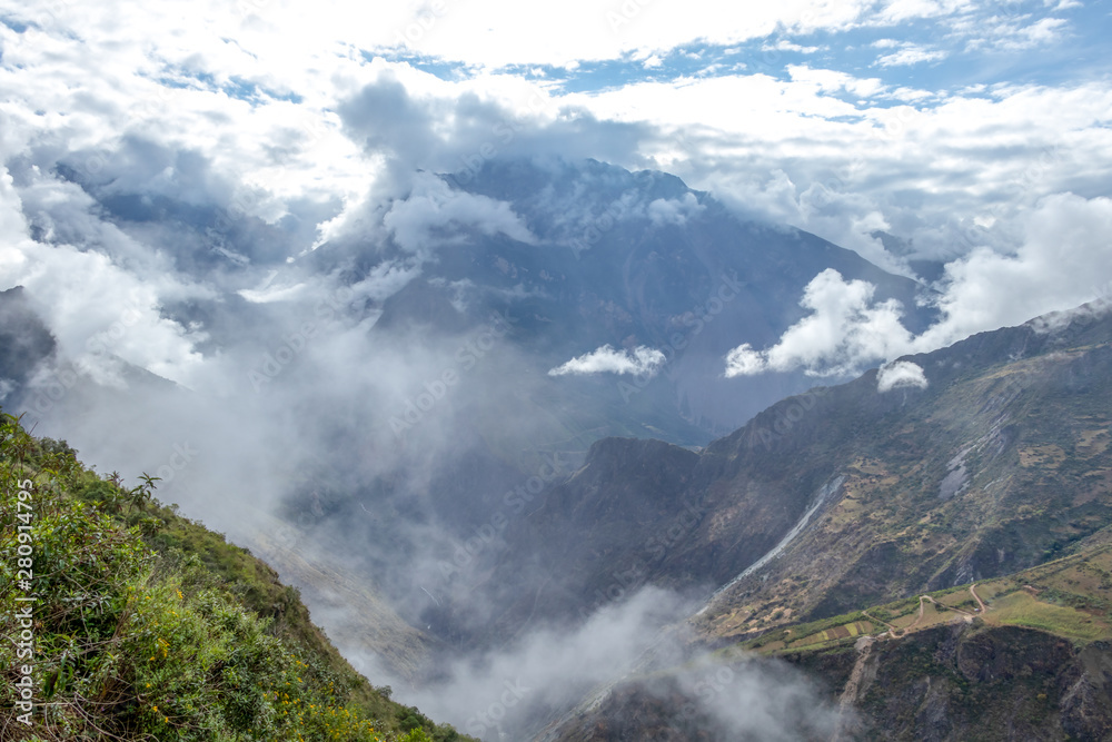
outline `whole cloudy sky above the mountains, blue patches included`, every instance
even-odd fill
[[[547,154],[673,172],[897,273],[950,261],[950,285],[970,289],[944,299],[960,326],[892,349],[936,347],[1109,293],[1110,12],[4,1],[0,288],[40,296],[63,347],[132,313],[117,352],[190,384],[205,330],[160,306],[220,290],[275,299],[258,291],[284,261],[356,230],[400,235],[375,206],[414,174]],[[102,214],[112,194],[258,217],[284,240],[267,255],[214,246],[245,268],[216,287],[181,269],[169,237],[120,234]],[[1000,271],[1017,283],[993,294],[983,280]]]

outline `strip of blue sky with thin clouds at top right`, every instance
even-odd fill
[[[633,21],[631,21],[633,22]],[[637,81],[689,77],[768,75],[790,78],[807,65],[855,77],[876,77],[894,88],[964,90],[1001,83],[1060,85],[1109,75],[1112,12],[1103,3],[989,3],[980,12],[898,24],[815,30],[787,29],[739,43],[702,39],[667,49],[622,50],[609,59],[574,66],[512,63],[497,69],[552,81],[560,91],[590,92]],[[380,52],[381,53],[381,52]],[[401,47],[385,52],[444,79],[468,75],[466,65]],[[652,61],[646,65],[646,59]]]

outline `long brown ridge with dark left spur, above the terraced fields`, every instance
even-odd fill
[[[453,580],[497,585],[506,626],[645,584],[718,587],[696,624],[735,637],[1016,572],[1112,524],[1112,315],[903,362],[926,388],[881,392],[873,370],[697,454],[602,441]]]

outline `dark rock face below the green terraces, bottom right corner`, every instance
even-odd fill
[[[878,642],[875,680],[856,704],[860,739],[1065,740],[1112,733],[1104,667],[1083,650],[1019,627],[959,624]]]

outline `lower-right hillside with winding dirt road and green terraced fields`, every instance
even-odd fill
[[[1112,545],[1023,572],[792,624],[729,643],[702,667],[627,681],[547,740],[704,739],[683,679],[786,663],[838,711],[800,739],[1099,740],[1112,735]],[[754,656],[756,655],[756,656]],[[704,683],[704,687],[706,684]],[[705,692],[705,691],[704,691]],[[729,731],[705,739],[748,739]]]

